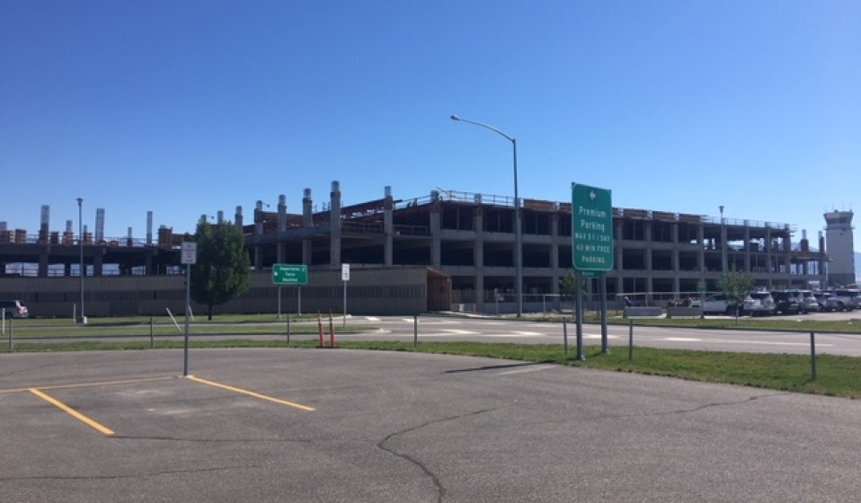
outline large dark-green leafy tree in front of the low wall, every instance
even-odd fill
[[[210,225],[201,220],[194,241],[198,260],[191,266],[191,298],[207,306],[212,320],[213,306],[242,296],[251,287],[251,259],[242,231],[230,222]]]

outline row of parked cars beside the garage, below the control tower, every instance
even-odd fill
[[[704,301],[694,300],[691,307],[702,307],[704,313],[735,314],[722,294],[707,296]],[[797,314],[861,309],[861,290],[838,288],[834,290],[760,290],[752,292],[741,305],[740,314],[765,316],[769,314]]]

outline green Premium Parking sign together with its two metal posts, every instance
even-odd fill
[[[607,298],[603,272],[613,269],[613,198],[608,189],[578,183],[571,184],[572,262],[577,270],[577,359],[582,354],[582,288],[581,278],[601,279],[601,347],[608,353]]]

